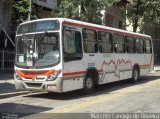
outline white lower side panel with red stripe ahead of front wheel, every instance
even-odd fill
[[[83,88],[83,60],[63,63],[63,92]]]

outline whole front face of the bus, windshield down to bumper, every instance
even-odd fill
[[[61,92],[60,52],[58,20],[35,20],[21,24],[16,34],[16,88]]]

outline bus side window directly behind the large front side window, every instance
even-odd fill
[[[98,52],[97,33],[95,30],[83,29],[83,47],[86,53]]]

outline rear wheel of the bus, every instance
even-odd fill
[[[133,71],[132,71],[132,79],[131,79],[131,81],[132,81],[133,83],[136,83],[136,82],[138,82],[139,77],[140,77],[139,68],[138,68],[137,66],[135,66],[135,67],[133,68]]]

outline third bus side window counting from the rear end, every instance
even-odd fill
[[[135,41],[134,41],[134,38],[133,37],[129,37],[129,36],[126,36],[126,52],[127,53],[134,53],[135,52]]]

